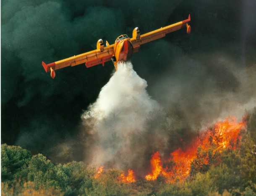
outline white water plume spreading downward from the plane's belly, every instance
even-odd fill
[[[131,167],[135,162],[140,165],[144,153],[153,150],[149,148],[150,137],[154,137],[154,148],[166,144],[163,134],[156,135],[165,114],[146,87],[146,80],[137,75],[131,62],[119,63],[97,101],[84,112],[84,131],[95,139],[89,150],[92,164],[118,168]],[[157,125],[149,127],[152,122]],[[92,137],[88,139],[91,142]]]

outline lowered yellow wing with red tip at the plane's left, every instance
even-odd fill
[[[46,64],[42,61],[42,66],[44,67],[45,72],[51,72],[51,77],[54,78],[54,70],[59,70],[61,68],[68,66],[76,66],[82,63],[85,63],[87,68],[97,64],[102,64],[104,66],[104,62],[110,61],[113,54],[114,44],[104,47],[102,51],[96,49],[90,52],[74,55],[73,57],[69,57],[49,64]]]

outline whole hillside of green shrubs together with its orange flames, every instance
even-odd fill
[[[256,111],[219,121],[169,157],[154,152],[144,176],[76,161],[55,165],[2,144],[2,195],[255,195],[255,119]]]

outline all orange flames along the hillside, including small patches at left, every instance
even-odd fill
[[[163,176],[167,183],[182,182],[191,174],[192,165],[197,170],[212,161],[217,165],[221,162],[220,155],[223,150],[235,150],[240,146],[241,131],[245,128],[245,120],[237,122],[234,117],[227,118],[198,134],[185,149],[178,148],[171,152],[167,160],[162,160],[159,151],[154,152],[150,160],[151,171],[144,178],[147,181],[155,181],[159,176]],[[214,157],[214,160],[209,162],[209,156],[211,159]],[[98,168],[95,178],[98,178],[102,171],[103,166]],[[119,180],[123,183],[134,183],[135,172],[128,169],[127,176],[121,173]]]

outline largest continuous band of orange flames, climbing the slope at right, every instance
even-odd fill
[[[172,168],[163,168],[159,152],[155,152],[150,160],[151,173],[145,176],[147,181],[154,181],[159,175],[166,178],[166,181],[173,183],[175,181],[184,181],[191,172],[191,163],[198,156],[197,150],[200,147],[203,150],[209,150],[214,147],[213,153],[221,153],[224,149],[234,150],[241,139],[240,131],[245,127],[244,121],[236,122],[233,119],[219,121],[214,125],[214,129],[208,129],[202,132],[201,136],[194,140],[186,149],[177,150],[170,153],[170,161],[174,162]],[[209,157],[206,155],[201,164],[208,164]]]

